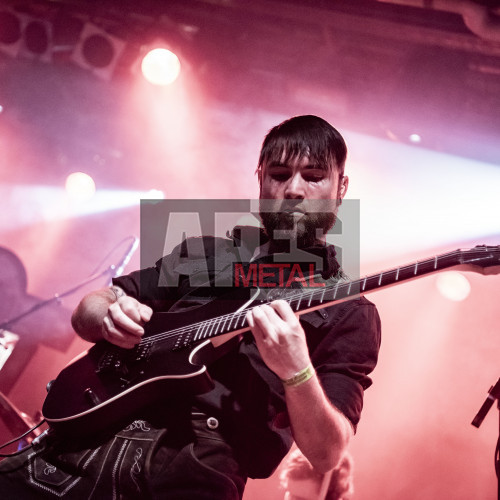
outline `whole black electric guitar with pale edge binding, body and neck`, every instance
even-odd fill
[[[325,287],[288,289],[283,297],[276,295],[279,289],[270,289],[274,292],[266,299],[256,289],[252,300],[224,314],[221,307],[231,301],[214,301],[186,313],[156,313],[134,349],[102,341],[64,368],[50,383],[43,416],[58,433],[95,433],[155,401],[211,390],[206,365],[224,349],[213,341],[248,331],[246,312],[255,305],[283,298],[300,315],[452,268],[498,274],[500,246],[456,250]]]

